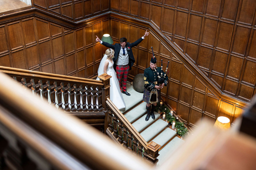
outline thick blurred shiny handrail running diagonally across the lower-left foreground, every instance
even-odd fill
[[[87,166],[107,170],[153,169],[120,149],[93,127],[50,107],[23,90],[8,76],[0,73],[0,78],[0,104]]]

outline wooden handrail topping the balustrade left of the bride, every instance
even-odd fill
[[[47,79],[47,80],[62,81],[62,82],[68,82],[68,83],[69,82],[83,83],[83,84],[89,84],[91,86],[101,86],[101,87],[104,86],[101,80],[79,78],[74,76],[66,76],[66,75],[45,73],[45,72],[39,72],[39,71],[31,71],[31,70],[25,70],[25,69],[19,69],[19,68],[0,66],[0,71],[10,76],[23,76],[25,78]]]

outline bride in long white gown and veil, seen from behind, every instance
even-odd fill
[[[113,68],[114,50],[109,48],[106,50],[105,55],[103,56],[101,63],[99,64],[98,75],[106,73],[112,78],[110,78],[110,100],[116,105],[120,110],[125,108],[125,102],[120,91],[119,82],[117,80],[116,72]],[[99,80],[99,78],[97,78]]]

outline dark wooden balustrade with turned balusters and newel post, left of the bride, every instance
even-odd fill
[[[0,66],[0,71],[34,91],[35,95],[42,95],[46,101],[49,93],[51,105],[59,110],[78,116],[93,126],[108,124],[105,123],[107,117],[102,121],[103,114],[108,115],[106,98],[109,97],[111,76],[107,74],[99,76],[101,80],[93,80],[3,66]]]

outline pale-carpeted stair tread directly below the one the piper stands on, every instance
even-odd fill
[[[158,119],[156,122],[150,125],[146,130],[144,130],[140,135],[145,139],[145,141],[150,141],[155,135],[161,132],[165,127],[168,126],[168,123],[162,119]]]

